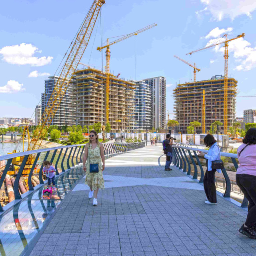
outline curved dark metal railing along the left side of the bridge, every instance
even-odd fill
[[[22,177],[22,172],[24,168],[28,168],[27,160],[30,155],[35,156],[34,162],[30,168],[28,173],[28,191],[33,191],[35,188],[32,182],[32,176],[35,172],[35,169],[38,170],[38,180],[39,184],[45,184],[47,181],[43,179],[43,162],[45,160],[49,160],[50,163],[54,164],[56,169],[56,176],[64,174],[67,170],[70,170],[71,167],[74,167],[80,163],[82,163],[82,156],[84,153],[86,144],[79,144],[79,145],[70,145],[70,146],[60,146],[54,148],[46,148],[46,149],[39,149],[39,150],[32,150],[32,151],[25,151],[15,154],[8,154],[0,156],[0,162],[5,162],[5,167],[2,171],[0,171],[0,188],[4,185],[4,181],[6,180],[6,175],[10,170],[13,170],[12,160],[17,157],[23,158],[20,167],[16,173],[16,177],[14,180],[13,188],[11,188],[12,198],[14,200],[21,200],[23,198],[21,194],[21,186],[22,182],[20,182],[20,178]],[[145,146],[145,142],[136,142],[136,143],[103,143],[104,147],[104,154],[106,156],[114,156],[115,154],[119,154],[122,152],[128,152],[130,150],[134,150],[137,148],[143,148]],[[40,164],[39,164],[40,159]],[[35,182],[34,182],[35,183]],[[24,185],[23,185],[24,186]],[[24,188],[24,187],[23,187]],[[26,191],[26,190],[25,190]],[[13,195],[14,194],[14,195]],[[25,196],[26,192],[24,193]],[[4,207],[0,205],[0,212],[4,212]]]

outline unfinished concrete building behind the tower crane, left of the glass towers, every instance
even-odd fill
[[[106,73],[95,68],[74,72],[77,125],[106,124]],[[131,132],[134,126],[136,84],[110,74],[109,121],[111,132]]]

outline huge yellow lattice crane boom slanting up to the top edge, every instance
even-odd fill
[[[103,4],[105,4],[105,0],[93,1],[92,6],[76,36],[76,40],[72,46],[72,49],[68,54],[64,67],[53,89],[52,95],[50,96],[44,113],[42,114],[40,120],[41,125],[37,126],[36,130],[34,131],[34,135],[32,140],[30,141],[28,150],[36,150],[40,147],[42,139],[48,131],[48,128],[52,123],[52,119],[71,82],[72,75],[79,64],[82,55],[84,54],[84,50],[87,47],[90,36],[92,34],[92,30],[100,12],[100,8]]]

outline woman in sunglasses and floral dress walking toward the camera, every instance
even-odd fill
[[[98,141],[97,132],[90,131],[89,139],[89,143],[86,144],[84,151],[83,169],[86,172],[85,184],[90,187],[88,197],[92,198],[93,196],[92,205],[97,205],[97,194],[99,188],[105,188],[102,174],[105,169],[105,156],[103,144]],[[86,161],[87,159],[88,161]],[[99,164],[99,172],[90,172],[90,164]]]

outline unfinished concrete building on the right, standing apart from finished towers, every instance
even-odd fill
[[[215,121],[224,123],[224,76],[213,76],[210,80],[178,84],[174,89],[174,111],[179,122],[178,132],[186,133],[190,122],[203,123],[203,90],[205,90],[206,132]],[[237,81],[228,78],[228,127],[232,126],[236,114]],[[202,132],[202,126],[196,128]],[[224,132],[224,126],[220,127]]]

